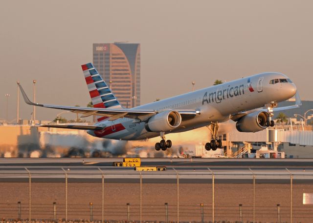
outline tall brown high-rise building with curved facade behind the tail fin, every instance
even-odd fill
[[[139,43],[93,43],[93,64],[122,106],[140,105]]]

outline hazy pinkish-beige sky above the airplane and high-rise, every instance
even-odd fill
[[[0,0],[0,118],[16,118],[16,81],[37,101],[86,106],[92,43],[141,44],[141,103],[277,71],[313,100],[312,0]],[[20,103],[21,118],[32,107]],[[37,109],[53,120],[60,110]],[[74,119],[74,115],[65,115]]]

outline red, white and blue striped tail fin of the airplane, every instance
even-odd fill
[[[100,77],[98,71],[92,63],[82,65],[85,80],[88,86],[90,98],[93,107],[96,108],[120,108],[122,107],[116,97],[113,95],[111,89]],[[105,119],[102,117],[98,122]]]

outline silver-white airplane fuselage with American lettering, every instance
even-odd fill
[[[225,122],[236,113],[257,109],[271,102],[285,101],[295,95],[294,83],[270,84],[270,81],[274,79],[288,79],[288,77],[281,73],[261,73],[140,105],[133,109],[149,109],[158,112],[196,109],[199,111],[199,115],[183,120],[179,127],[172,130],[171,133],[188,131],[206,126],[211,122]],[[142,140],[160,135],[159,132],[147,131],[145,122],[134,123],[134,119],[129,118],[117,119],[112,122],[105,120],[96,125],[106,127],[101,131],[89,130],[88,133],[106,139]]]

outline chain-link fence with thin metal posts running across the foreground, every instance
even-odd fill
[[[0,217],[89,221],[313,222],[313,171],[7,169]]]

